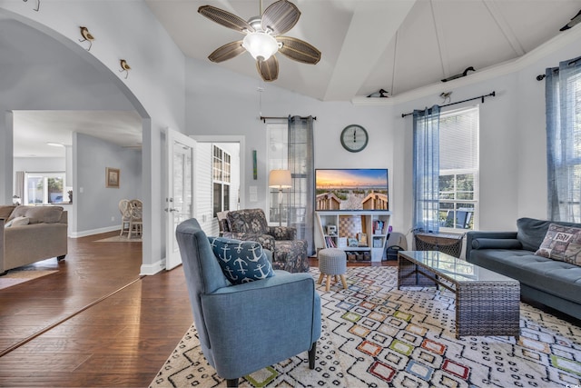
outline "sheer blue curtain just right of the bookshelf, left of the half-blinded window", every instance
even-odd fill
[[[438,233],[439,106],[414,111],[414,229]]]

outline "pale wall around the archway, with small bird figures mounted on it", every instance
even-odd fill
[[[183,132],[184,127],[182,52],[141,0],[61,0],[47,2],[41,12],[34,12],[25,2],[0,0],[0,15],[53,36],[84,58],[88,66],[94,66],[142,115],[143,201],[148,205],[143,212],[141,271],[142,274],[156,273],[162,268],[165,255],[162,208],[166,173],[162,164],[162,131],[172,127]],[[78,41],[79,25],[87,26],[95,36],[90,52]],[[17,36],[15,44],[18,45]],[[127,79],[119,72],[122,58],[133,69]],[[0,138],[0,144],[5,139],[12,141],[10,135]],[[8,170],[12,171],[11,162],[0,174]],[[4,178],[0,175],[0,181]]]

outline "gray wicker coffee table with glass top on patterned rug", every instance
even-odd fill
[[[398,289],[442,286],[456,293],[456,337],[520,333],[520,284],[438,251],[399,251]]]

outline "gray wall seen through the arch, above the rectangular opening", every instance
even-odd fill
[[[0,20],[0,34],[8,30],[14,34],[11,42],[19,55],[7,58],[6,51],[0,51],[0,114],[12,110],[133,109],[117,86],[62,43],[15,20]],[[0,120],[0,144],[0,203],[5,204],[13,194],[13,180],[9,179],[14,171],[12,114]]]

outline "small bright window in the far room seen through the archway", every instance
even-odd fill
[[[64,193],[64,171],[58,173],[26,173],[24,204],[68,203]]]

